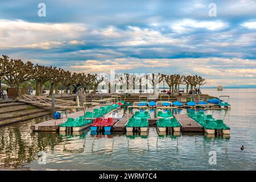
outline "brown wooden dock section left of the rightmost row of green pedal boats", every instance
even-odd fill
[[[185,114],[175,116],[181,125],[181,131],[204,131],[203,127]]]

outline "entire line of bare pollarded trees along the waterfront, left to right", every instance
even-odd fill
[[[43,93],[43,85],[46,82],[50,83],[49,95],[55,91],[57,93],[58,85],[61,83],[64,92],[69,87],[69,93],[72,93],[73,85],[81,86],[89,91],[93,88],[95,92],[98,86],[104,84],[108,86],[109,92],[111,86],[114,85],[114,91],[117,85],[120,89],[133,90],[139,85],[139,90],[144,87],[148,89],[148,85],[155,91],[160,82],[166,82],[170,88],[170,92],[179,90],[180,85],[187,86],[187,92],[190,89],[196,89],[197,85],[205,84],[204,78],[201,76],[183,76],[183,75],[164,75],[160,73],[152,74],[129,74],[117,73],[114,78],[110,79],[106,74],[85,74],[85,73],[72,73],[57,67],[47,67],[39,64],[32,64],[30,61],[23,62],[22,60],[9,59],[8,56],[3,55],[0,58],[0,81],[5,80],[12,88],[17,88],[19,93],[20,85],[23,82],[35,80],[36,81],[36,95]]]

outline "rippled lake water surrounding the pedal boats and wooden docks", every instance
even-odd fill
[[[255,170],[256,169],[256,89],[202,89],[212,96],[229,95],[232,109],[225,123],[230,137],[208,137],[181,133],[158,135],[150,127],[147,136],[98,134],[82,131],[77,135],[34,133],[31,122],[0,128],[0,168],[31,170]],[[181,111],[185,113],[185,110]],[[215,110],[214,116],[224,116]],[[245,150],[241,150],[241,146]],[[39,160],[38,152],[45,156]],[[209,152],[216,163],[209,164]],[[42,159],[42,158],[41,158]]]

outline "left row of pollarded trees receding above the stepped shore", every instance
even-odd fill
[[[88,90],[93,86],[96,90],[97,86],[104,80],[104,77],[97,74],[71,73],[57,67],[34,65],[30,61],[24,63],[22,60],[9,59],[6,55],[0,58],[0,78],[5,80],[11,88],[15,87],[17,94],[19,93],[20,84],[35,80],[36,95],[43,93],[43,85],[47,81],[51,85],[49,90],[49,95],[51,95],[54,90],[57,93],[59,82],[63,84],[64,92],[69,86],[70,93],[72,93],[73,84],[80,84],[83,88],[86,86]]]

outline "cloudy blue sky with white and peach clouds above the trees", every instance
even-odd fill
[[[38,16],[38,4],[46,16]],[[0,1],[0,52],[74,72],[256,85],[256,1]],[[215,3],[217,16],[209,16]]]

